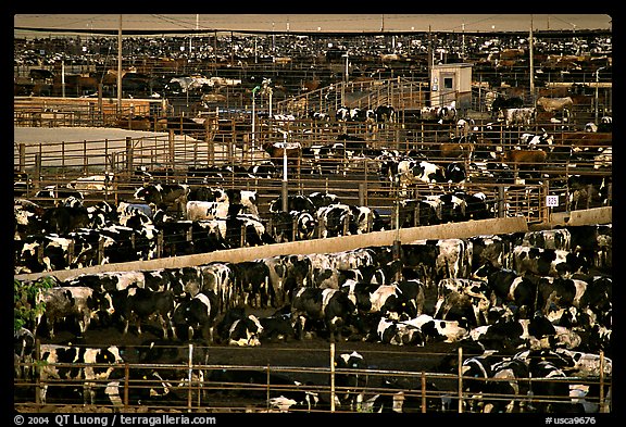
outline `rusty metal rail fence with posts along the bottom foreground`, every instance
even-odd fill
[[[343,344],[342,344],[343,346]],[[377,368],[339,368],[333,361],[336,360],[336,348],[329,344],[328,350],[323,348],[303,350],[289,348],[270,349],[275,352],[320,352],[327,351],[327,363],[323,366],[278,366],[278,365],[236,365],[236,364],[211,364],[198,363],[195,354],[211,352],[221,354],[220,347],[195,347],[188,346],[155,346],[164,353],[174,350],[178,354],[187,354],[188,359],[176,363],[118,363],[111,364],[84,364],[84,363],[46,363],[30,362],[18,363],[16,369],[22,373],[33,373],[30,378],[14,378],[15,407],[41,409],[40,391],[47,388],[48,401],[46,407],[67,407],[96,405],[100,409],[113,409],[128,411],[141,409],[142,411],[177,411],[177,412],[278,412],[279,405],[274,403],[273,398],[300,393],[309,395],[310,406],[298,405],[289,412],[372,412],[367,400],[374,397],[386,397],[389,401],[395,399],[400,402],[403,412],[416,413],[465,413],[484,412],[487,403],[504,402],[516,405],[521,412],[537,412],[538,409],[550,407],[550,404],[573,404],[585,402],[592,405],[599,413],[611,412],[612,406],[612,375],[606,375],[605,359],[599,354],[598,375],[584,374],[583,376],[565,377],[515,377],[515,378],[478,378],[463,375],[462,364],[464,357],[459,349],[455,354],[456,367],[450,373],[426,371],[396,371]],[[227,351],[260,352],[261,348],[227,348]],[[381,350],[380,352],[393,352],[398,355],[401,348]],[[350,352],[350,351],[349,351]],[[365,359],[367,352],[360,352]],[[39,354],[39,353],[37,353]],[[450,357],[450,353],[406,353],[408,356],[430,357],[442,360]],[[453,354],[453,353],[452,353]],[[505,357],[503,357],[505,359]],[[41,372],[55,372],[58,368],[72,368],[79,373],[90,367],[93,372],[103,372],[114,367],[108,379],[89,379],[84,376],[72,378],[41,377]],[[149,373],[149,374],[148,374]],[[155,373],[155,375],[154,375]],[[231,374],[231,375],[229,375]],[[339,376],[352,376],[359,381],[351,386],[341,385]],[[114,379],[111,379],[114,378]],[[251,379],[253,378],[253,379]],[[287,379],[287,380],[286,380]],[[484,388],[485,382],[493,384],[514,382],[521,390],[517,394],[499,392],[476,392],[471,390]],[[566,384],[564,390],[580,389],[587,395],[574,395],[569,392],[563,394],[542,394],[540,390],[547,384]],[[515,387],[515,386],[514,386]],[[167,399],[159,402],[159,399],[147,399],[138,402],[137,395],[159,395],[155,390],[164,390]],[[598,390],[597,393],[589,389]],[[92,402],[87,399],[84,402],[82,392],[95,391],[98,398]],[[65,392],[64,392],[65,391]],[[72,394],[74,392],[74,397]],[[65,395],[66,398],[60,398]],[[54,399],[54,397],[59,397]],[[316,398],[316,402],[313,400]],[[340,398],[340,399],[338,399]],[[387,410],[389,411],[389,409]]]

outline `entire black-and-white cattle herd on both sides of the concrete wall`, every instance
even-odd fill
[[[481,50],[479,45],[475,48]],[[216,78],[168,78],[163,90],[188,97],[195,84],[202,92],[260,81]],[[270,80],[263,81],[266,89]],[[330,86],[338,83],[328,80]],[[276,81],[274,89],[278,93]],[[420,412],[425,404],[428,412],[455,412],[453,398],[463,392],[459,405],[464,412],[610,412],[612,224],[396,241],[185,267],[77,271],[65,279],[53,275],[103,264],[512,216],[510,206],[499,205],[504,200],[486,194],[480,183],[505,185],[506,191],[550,180],[552,188],[567,188],[563,196],[568,210],[584,208],[591,199],[610,205],[612,177],[604,173],[612,167],[612,149],[605,148],[612,143],[609,110],[598,123],[572,131],[572,98],[540,97],[529,105],[511,93],[500,90],[484,97],[491,113],[488,123],[463,116],[455,101],[402,111],[402,129],[397,131],[406,137],[405,151],[399,150],[400,143],[389,141],[383,148],[384,140],[346,130],[361,123],[372,134],[387,125],[395,128],[400,111],[390,104],[300,109],[272,117],[273,131],[285,140],[258,147],[263,161],[249,168],[235,162],[223,168],[195,164],[178,180],[161,180],[138,169],[141,184],[130,197],[115,197],[115,202],[92,202],[95,193],[111,193],[117,179],[113,173],[42,188],[35,201],[15,184],[14,285],[37,289],[23,302],[40,307],[14,334],[14,382],[22,386],[16,401],[32,402],[37,393],[43,405],[165,410],[187,402],[187,390],[197,382],[205,389],[193,400],[211,407],[217,393],[211,385],[243,384],[249,389],[242,392],[251,392],[270,381],[279,387],[256,390],[259,411]],[[303,118],[320,128],[342,130],[313,143],[287,142],[293,137],[289,125]],[[412,127],[412,120],[422,129],[445,125],[441,129],[448,135],[437,134],[429,143],[423,130],[418,136],[420,126]],[[550,124],[553,131],[541,124]],[[556,169],[552,176],[550,162]],[[239,174],[241,181],[270,183],[283,172],[285,178],[325,175],[340,183],[362,165],[367,174],[368,164],[375,164],[376,188],[393,205],[349,203],[329,187],[280,193],[265,211],[258,191],[234,188],[238,184],[226,185],[224,179]],[[563,164],[568,168],[564,174],[559,168]],[[210,184],[221,181],[224,186]],[[57,202],[37,202],[46,198]],[[24,278],[30,274],[37,278]],[[98,331],[115,338],[90,342],[88,337]],[[127,346],[129,341],[139,344]],[[289,375],[234,367],[159,366],[206,365],[216,349],[304,349],[309,342],[398,352],[446,344],[454,351],[437,353],[430,374],[461,373],[464,380],[462,386],[427,382],[423,387],[429,392],[442,394],[429,395],[426,403],[415,397],[418,381],[400,387],[385,378],[372,391],[366,371],[374,364],[371,355],[356,350],[335,356],[335,397],[320,391],[328,386],[325,380],[303,384]],[[135,362],[139,367],[124,369]],[[127,388],[128,382],[142,386]]]

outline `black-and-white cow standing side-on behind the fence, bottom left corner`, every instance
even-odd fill
[[[48,389],[52,382],[83,381],[84,404],[96,403],[96,388],[100,382],[109,379],[115,368],[122,368],[123,359],[116,346],[107,348],[76,348],[70,346],[41,344],[40,360],[45,364],[39,368],[39,399],[42,404],[48,403]],[[84,367],[73,364],[86,364]],[[67,387],[67,386],[65,386]],[[104,387],[104,386],[100,386]],[[54,397],[61,391],[53,393]]]

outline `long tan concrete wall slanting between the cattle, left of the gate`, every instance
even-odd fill
[[[14,277],[21,280],[34,280],[42,276],[54,276],[59,280],[65,280],[82,274],[96,274],[102,272],[181,268],[185,266],[206,264],[213,261],[237,263],[241,261],[251,261],[286,254],[342,252],[366,247],[391,246],[397,239],[402,243],[411,243],[421,239],[461,239],[478,235],[496,235],[527,230],[528,226],[526,219],[522,216],[512,218],[470,221],[465,223],[450,223],[426,227],[402,228],[398,231],[375,231],[365,235],[293,241],[252,248],[239,248],[187,256],[173,256],[159,260],[135,261],[118,264],[104,264],[79,269],[62,269],[55,272],[23,274],[16,275]]]

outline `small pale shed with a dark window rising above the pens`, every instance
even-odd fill
[[[430,68],[430,106],[449,105],[458,110],[472,105],[472,66],[468,63],[439,64]]]

